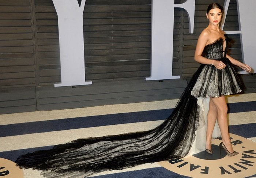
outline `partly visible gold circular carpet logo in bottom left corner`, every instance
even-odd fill
[[[16,166],[15,162],[0,158],[0,177],[1,178],[23,178],[23,170]]]

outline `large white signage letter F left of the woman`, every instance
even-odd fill
[[[189,32],[193,33],[195,0],[174,4],[174,0],[152,0],[151,77],[146,80],[179,79],[172,76],[174,7],[188,12]]]

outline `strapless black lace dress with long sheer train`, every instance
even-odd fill
[[[207,45],[205,52],[207,58],[221,60],[227,67],[218,70],[213,65],[202,64],[173,112],[156,128],[145,132],[78,139],[56,145],[50,150],[21,155],[16,163],[20,168],[42,170],[42,175],[47,178],[84,178],[105,170],[121,170],[191,154],[195,140],[205,137],[203,134],[196,136],[198,128],[205,123],[201,122],[204,120],[201,118],[202,106],[197,99],[241,91],[236,71],[225,57],[223,41],[220,38]],[[204,145],[202,149],[205,149]]]

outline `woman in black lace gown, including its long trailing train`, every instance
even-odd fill
[[[208,8],[209,26],[200,35],[196,47],[195,60],[202,65],[192,76],[173,112],[161,125],[145,132],[74,140],[56,145],[50,150],[22,155],[16,163],[21,168],[42,170],[44,177],[48,178],[83,178],[85,175],[105,170],[119,170],[143,163],[182,158],[205,149],[212,153],[211,137],[216,118],[223,137],[222,146],[230,152],[229,155],[234,155],[227,138],[226,103],[223,95],[241,91],[231,63],[248,72],[251,68],[219,50],[226,42],[223,42],[223,31],[218,28],[221,6],[215,5]],[[204,49],[210,52],[206,56],[208,59],[202,56]],[[211,56],[214,58],[210,59]],[[211,80],[209,76],[216,76],[218,80]],[[202,106],[197,98],[207,96],[212,98],[208,104],[210,109],[206,140],[206,135],[202,135],[205,131],[201,132],[204,130],[205,121],[201,112]],[[200,145],[202,138],[205,141]],[[207,147],[204,143],[207,143]]]

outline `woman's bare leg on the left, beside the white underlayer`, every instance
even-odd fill
[[[206,149],[211,149],[212,132],[217,119],[217,107],[210,98],[209,111],[207,114],[207,129],[206,129]]]

